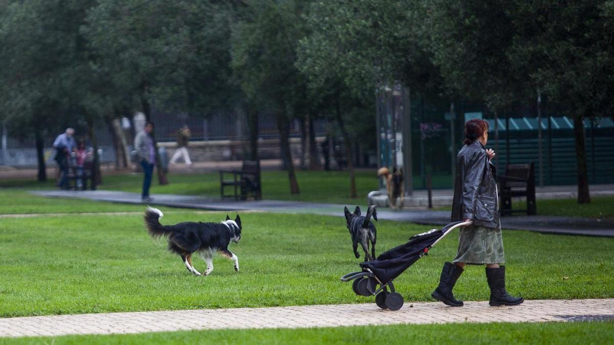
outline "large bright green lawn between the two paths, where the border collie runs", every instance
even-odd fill
[[[58,199],[54,207],[71,202]],[[225,217],[163,211],[165,224]],[[164,240],[147,236],[138,214],[2,219],[0,317],[373,302],[339,281],[359,268],[343,217],[245,213],[242,219],[243,239],[230,246],[241,271],[216,256],[208,277],[188,274]],[[429,228],[382,221],[377,252]],[[526,231],[505,231],[504,237],[511,293],[530,299],[614,297],[614,239]],[[456,238],[440,242],[395,281],[407,301],[430,300],[441,265],[456,253]],[[195,266],[203,271],[204,262],[196,258]],[[484,268],[468,268],[455,291],[465,300],[488,300]]]

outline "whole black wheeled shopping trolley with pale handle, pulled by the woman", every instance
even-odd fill
[[[441,229],[433,229],[426,233],[411,236],[409,242],[384,252],[376,260],[361,262],[362,271],[348,273],[341,277],[341,281],[354,281],[352,290],[356,295],[375,295],[375,303],[379,308],[401,309],[403,296],[395,292],[392,280],[400,276],[422,255],[429,254],[429,249],[452,230],[471,224],[471,221],[453,222]]]

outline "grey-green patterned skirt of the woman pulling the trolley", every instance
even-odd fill
[[[505,262],[501,228],[462,227],[454,262],[470,265]]]

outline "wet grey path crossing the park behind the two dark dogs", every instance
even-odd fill
[[[142,204],[139,193],[119,192],[110,190],[43,190],[32,192],[36,195],[60,198],[85,198],[97,201],[115,203]],[[155,194],[147,204],[170,207],[187,207],[193,209],[208,209],[217,211],[269,211],[302,214],[324,214],[343,217],[341,204],[317,204],[302,201],[231,201],[219,198],[203,198],[202,196]],[[354,205],[348,205],[352,210]],[[366,206],[363,205],[366,209]],[[449,211],[418,211],[411,209],[395,210],[378,209],[380,220],[398,220],[426,225],[446,225],[449,223]],[[547,215],[515,215],[502,217],[501,225],[505,229],[530,230],[540,233],[561,235],[583,235],[614,237],[614,219],[581,219],[573,217],[555,217]]]

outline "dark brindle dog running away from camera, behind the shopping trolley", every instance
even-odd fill
[[[343,211],[346,215],[349,233],[352,235],[354,255],[356,255],[356,258],[360,257],[357,250],[358,242],[360,242],[362,249],[365,250],[365,261],[374,260],[377,230],[373,222],[371,222],[371,217],[378,220],[378,213],[375,211],[375,205],[369,206],[366,216],[360,215],[360,207],[358,206],[356,206],[354,213],[350,213],[348,207],[345,207]],[[371,241],[371,253],[369,253],[369,241]]]

